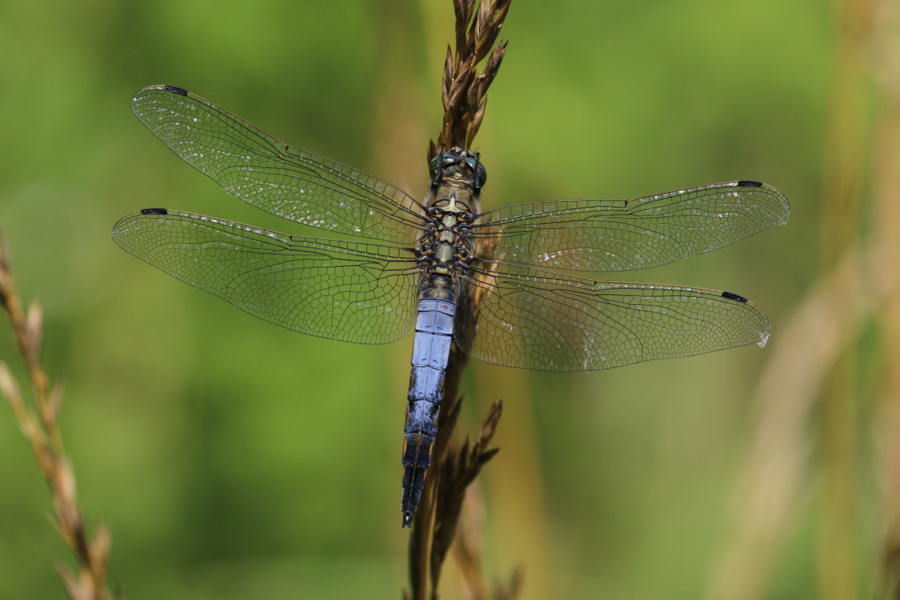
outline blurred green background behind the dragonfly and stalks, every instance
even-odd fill
[[[590,374],[470,364],[459,431],[505,401],[502,450],[473,501],[489,581],[521,565],[526,598],[632,599],[717,597],[740,580],[726,563],[753,517],[740,485],[760,382],[786,354],[779,338],[829,244],[832,11],[813,0],[513,2],[477,144],[486,206],[758,179],[789,197],[792,216],[713,255],[625,275],[746,295],[771,320],[765,349]],[[300,231],[182,163],[134,118],[131,95],[187,88],[421,197],[451,39],[449,0],[0,0],[0,229],[23,295],[45,306],[44,362],[65,383],[80,498],[112,530],[111,581],[127,598],[397,598],[411,346],[293,334],[119,250],[113,223],[145,207]],[[854,389],[883,368],[877,323],[866,332]],[[24,377],[9,337],[0,359]],[[792,356],[802,371],[807,357]],[[0,415],[0,597],[64,598],[53,565],[68,554],[46,486],[11,411]],[[881,510],[882,476],[869,425],[851,426],[863,450],[844,482],[858,533],[846,550],[865,590],[884,529],[865,515]],[[794,446],[804,466],[788,477],[775,539],[751,548],[763,557],[747,575],[752,597],[827,587],[815,439]],[[452,567],[446,579],[444,597],[465,597]]]

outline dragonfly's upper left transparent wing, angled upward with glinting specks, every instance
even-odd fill
[[[181,88],[134,95],[140,121],[229,194],[273,215],[346,235],[411,244],[419,204],[362,171],[288,146]]]

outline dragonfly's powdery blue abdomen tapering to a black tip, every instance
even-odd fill
[[[425,473],[437,436],[438,414],[444,398],[444,376],[456,305],[449,300],[419,300],[416,337],[413,341],[412,371],[409,376],[409,405],[403,439],[403,526],[411,527],[419,496],[425,487]]]

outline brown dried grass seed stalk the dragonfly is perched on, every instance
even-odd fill
[[[444,120],[437,142],[429,142],[429,160],[444,148],[472,146],[484,119],[488,88],[496,78],[506,52],[506,41],[499,36],[509,4],[510,0],[453,0],[456,50],[447,48],[441,94]],[[484,69],[479,73],[478,66],[482,62]],[[456,399],[466,360],[466,355],[454,346],[445,376],[445,399]],[[410,537],[411,591],[404,595],[406,598],[437,598],[442,566],[457,533],[466,488],[475,480],[481,467],[497,453],[496,449],[487,446],[502,412],[499,402],[489,411],[471,449],[468,441],[460,448],[450,445],[460,400],[447,404],[450,408],[443,411]],[[465,556],[474,560],[478,553],[469,547]],[[479,579],[481,569],[461,566],[467,574],[473,597],[485,598],[484,590],[488,586]],[[514,598],[518,595],[519,582],[520,577],[516,574],[511,578],[509,588],[497,590],[495,597]]]

